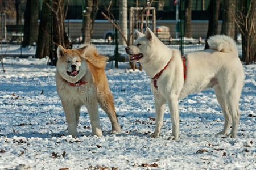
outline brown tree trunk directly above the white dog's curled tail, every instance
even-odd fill
[[[234,14],[236,10],[236,0],[224,0],[223,9],[224,12],[221,33],[234,39],[235,23],[232,14]]]

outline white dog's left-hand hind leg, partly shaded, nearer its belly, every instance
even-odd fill
[[[226,103],[225,96],[224,96],[223,91],[221,90],[221,87],[218,86],[218,85],[214,86],[213,90],[214,90],[215,95],[217,97],[218,104],[220,104],[221,110],[224,114],[224,129],[222,131],[220,131],[220,133],[218,133],[218,134],[227,135],[228,130],[229,130],[229,126],[230,126],[230,123],[231,123],[231,115],[229,113],[228,105]]]

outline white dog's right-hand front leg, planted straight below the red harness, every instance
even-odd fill
[[[179,102],[178,96],[172,95],[168,99],[168,105],[171,113],[171,121],[172,121],[172,135],[168,138],[168,140],[179,140],[179,129],[180,129],[180,120],[179,120]]]

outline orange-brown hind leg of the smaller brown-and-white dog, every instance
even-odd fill
[[[115,113],[114,98],[110,90],[108,89],[105,92],[98,92],[97,100],[101,108],[109,117],[109,120],[112,125],[111,133],[121,133],[121,128],[117,120],[117,114]]]

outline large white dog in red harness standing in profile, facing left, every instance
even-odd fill
[[[169,49],[147,28],[145,34],[136,31],[138,39],[126,47],[131,61],[141,62],[152,78],[151,90],[155,96],[156,127],[150,137],[159,137],[163,125],[166,101],[171,112],[172,135],[179,139],[178,100],[188,94],[213,88],[224,113],[224,129],[218,134],[236,138],[240,118],[238,103],[245,75],[238,58],[236,43],[225,35],[208,39],[210,49],[182,56]],[[228,134],[232,120],[232,130]]]

